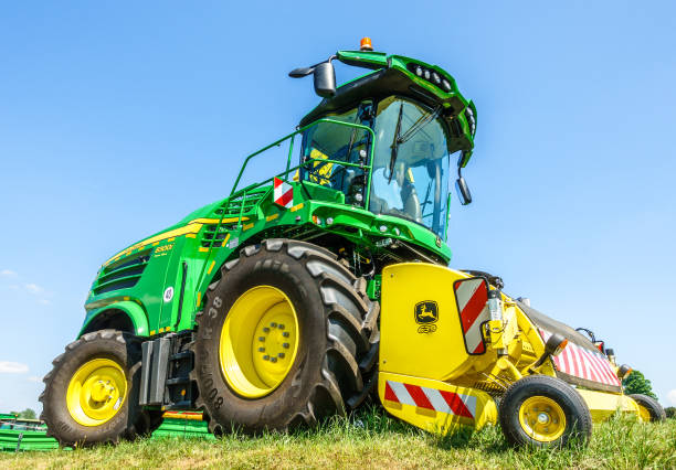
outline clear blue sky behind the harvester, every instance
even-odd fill
[[[225,195],[317,103],[287,72],[363,35],[478,108],[452,266],[596,331],[676,405],[673,2],[234,3],[3,3],[0,410],[38,407],[99,265]]]

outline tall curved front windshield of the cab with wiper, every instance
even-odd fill
[[[408,218],[443,236],[450,157],[437,114],[398,97],[378,104],[369,211]]]

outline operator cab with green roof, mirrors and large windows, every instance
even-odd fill
[[[474,105],[439,67],[382,53],[338,52],[336,57],[376,71],[331,90],[335,78],[326,77],[327,70],[332,74],[330,60],[321,64],[321,76],[314,66],[315,89],[325,98],[300,127],[318,119],[334,122],[304,131],[300,181],[339,191],[347,204],[415,222],[445,238],[448,182],[472,153]],[[296,70],[292,76],[310,71]],[[464,180],[458,183],[458,197],[468,203]]]

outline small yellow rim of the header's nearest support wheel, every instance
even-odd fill
[[[532,439],[551,442],[563,435],[566,414],[553,399],[546,396],[531,396],[519,408],[519,423]]]

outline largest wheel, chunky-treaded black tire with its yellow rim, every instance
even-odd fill
[[[311,426],[377,377],[379,306],[330,252],[268,239],[221,269],[198,316],[192,372],[210,430]]]

